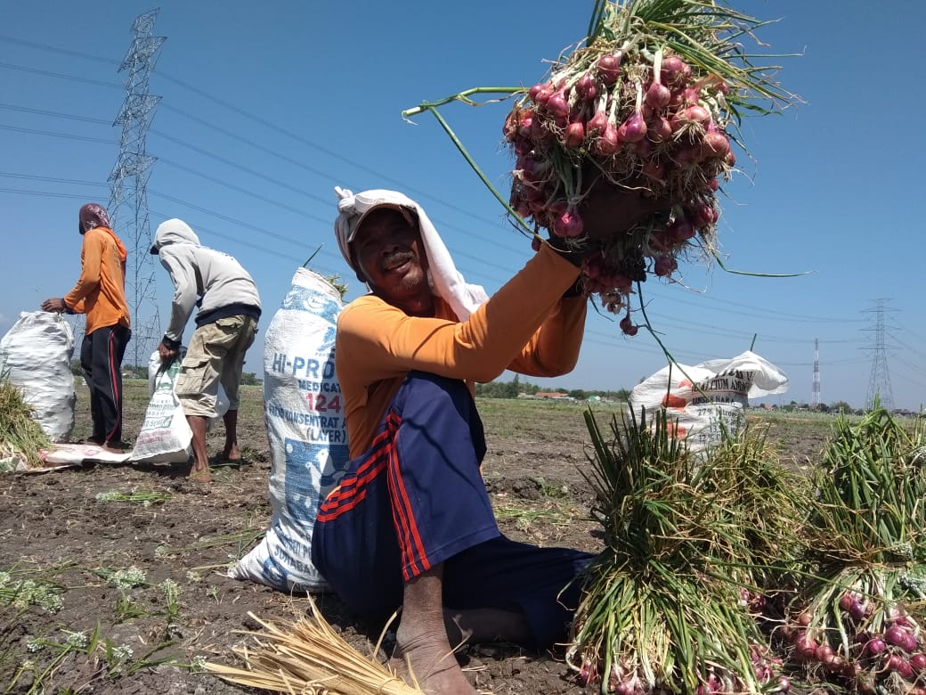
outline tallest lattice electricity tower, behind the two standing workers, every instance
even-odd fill
[[[109,218],[129,250],[126,262],[126,298],[131,310],[132,364],[144,365],[160,337],[156,303],[155,264],[148,253],[147,183],[156,158],[144,149],[148,126],[159,96],[148,94],[148,76],[155,54],[167,37],[153,36],[158,9],[139,15],[131,23],[132,39],[119,72],[126,71],[125,99],[113,126],[120,129],[119,157],[109,174]],[[117,221],[119,223],[117,224]]]

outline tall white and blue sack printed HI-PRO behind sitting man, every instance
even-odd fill
[[[323,591],[311,562],[323,499],[344,476],[347,433],[334,375],[334,332],[344,304],[323,277],[298,269],[264,337],[264,415],[270,447],[267,535],[230,576],[281,591]]]

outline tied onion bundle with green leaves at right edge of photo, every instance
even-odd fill
[[[808,517],[812,581],[782,625],[811,680],[926,695],[926,427],[883,408],[833,426]]]

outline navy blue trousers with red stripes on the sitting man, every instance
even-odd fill
[[[579,601],[573,579],[592,556],[504,537],[482,481],[484,454],[466,385],[408,373],[312,532],[312,562],[349,608],[386,619],[405,582],[443,562],[447,608],[522,611],[537,648],[565,637]]]

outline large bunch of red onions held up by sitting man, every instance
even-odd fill
[[[584,264],[589,293],[627,309],[632,285],[671,278],[690,249],[714,254],[720,182],[730,178],[745,110],[794,95],[752,64],[742,43],[760,26],[720,0],[597,0],[584,45],[507,115],[516,157],[510,208],[552,234],[583,238],[582,198],[599,177],[668,198],[669,219],[607,240]],[[635,333],[628,319],[625,333]]]

